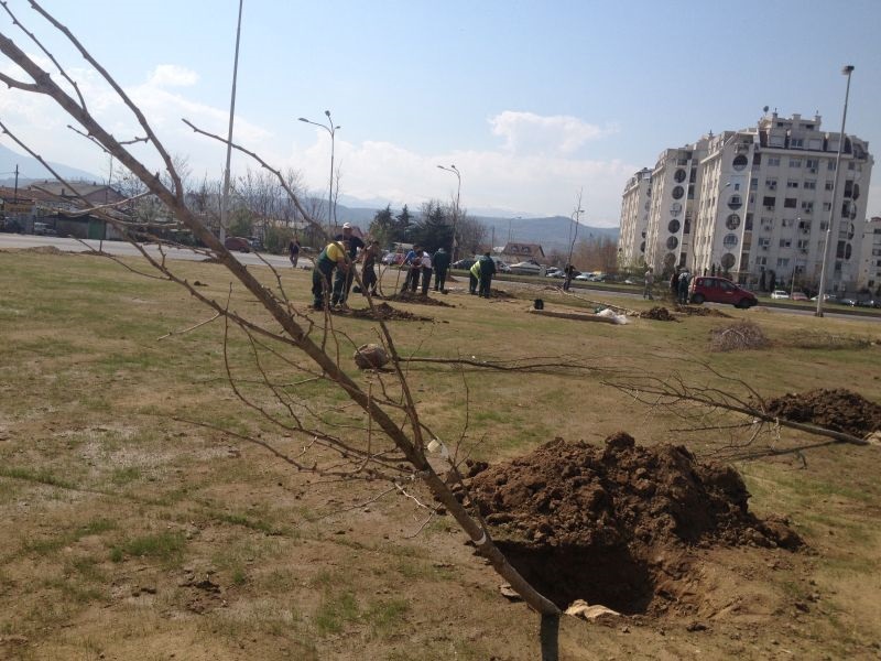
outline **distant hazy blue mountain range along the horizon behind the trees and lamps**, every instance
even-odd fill
[[[70,167],[63,163],[52,163],[52,167],[63,177],[69,180],[83,180],[88,182],[99,182],[102,180],[84,170]],[[34,180],[44,180],[53,177],[52,173],[46,170],[40,161],[33,156],[25,156],[13,152],[12,150],[0,144],[0,184],[12,186],[14,184],[15,167],[19,169],[19,185],[25,186]],[[348,197],[346,202],[348,205],[339,204],[337,206],[337,218],[340,223],[351,223],[358,225],[362,230],[367,231],[373,216],[378,209],[384,208],[385,205],[371,201],[371,206],[358,206],[365,204],[363,201],[357,201]],[[413,205],[411,210],[416,212],[417,205]],[[395,213],[400,209],[393,209]],[[574,228],[573,221],[565,216],[547,216],[543,218],[508,218],[491,215],[476,215],[469,214],[472,218],[477,219],[487,228],[487,239],[493,246],[503,246],[508,241],[518,243],[539,243],[545,250],[566,250],[568,249],[570,235]],[[578,226],[578,239],[600,239],[608,238],[618,240],[617,227],[590,227],[587,225]]]

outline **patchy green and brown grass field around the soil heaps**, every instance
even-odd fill
[[[267,321],[220,266],[175,269],[202,294]],[[280,283],[268,269],[252,272],[305,308],[307,272],[284,272]],[[592,310],[594,299],[649,303],[606,292],[564,299],[505,282],[499,286],[512,297],[483,301],[466,286],[454,283],[443,297],[450,307],[394,304],[434,319],[391,323],[401,355],[565,356],[592,368],[412,362],[424,422],[476,458],[513,457],[556,436],[600,444],[619,430],[644,445],[685,444],[701,458],[730,456],[744,441],[685,430],[674,411],[602,384],[617,373],[733,388],[709,366],[763,397],[823,387],[881,402],[877,322],[759,307],[617,326],[525,310],[536,296],[558,310]],[[363,306],[359,296],[354,306]],[[261,394],[267,377],[326,424],[360,419],[326,382],[301,379],[301,356],[285,350],[257,369],[240,333],[225,347],[221,321],[200,325],[211,316],[178,285],[95,256],[0,252],[0,658],[536,658],[537,617],[498,594],[498,577],[449,518],[422,529],[424,510],[412,499],[374,500],[384,486],[296,473],[241,438],[289,453],[303,444],[236,397],[225,353],[257,402],[273,405]],[[755,322],[772,346],[709,353],[710,332],[740,319]],[[376,339],[376,324],[334,324],[328,346],[367,382],[350,358]],[[881,654],[881,448],[785,429],[748,447],[755,457],[735,460],[751,508],[787,516],[809,551],[717,550],[694,577],[706,594],[694,619],[705,628],[567,618],[564,659]]]

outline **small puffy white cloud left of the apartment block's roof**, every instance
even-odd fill
[[[505,110],[489,120],[492,134],[504,139],[504,149],[530,154],[572,154],[586,142],[616,132],[577,117],[542,117],[533,112]]]

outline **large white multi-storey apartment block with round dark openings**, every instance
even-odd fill
[[[856,291],[873,159],[868,143],[825,132],[820,118],[765,113],[754,127],[665,150],[652,170],[646,264],[725,273],[765,289],[816,286],[833,219],[827,289]],[[632,186],[624,189],[624,206]],[[640,254],[621,246],[622,256]],[[635,263],[634,261],[627,263]]]

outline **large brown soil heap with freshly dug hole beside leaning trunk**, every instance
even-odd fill
[[[511,564],[562,608],[694,608],[697,548],[802,545],[785,521],[748,511],[733,468],[698,464],[683,446],[641,447],[623,432],[605,448],[556,438],[466,485]]]

